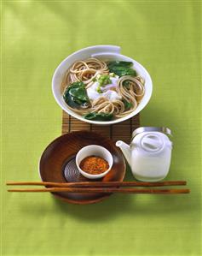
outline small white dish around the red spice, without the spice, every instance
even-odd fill
[[[107,163],[109,164],[109,168],[105,171],[102,172],[101,174],[89,174],[87,172],[85,172],[84,170],[82,170],[80,168],[80,164],[81,161],[84,158],[90,157],[90,156],[95,156],[95,157],[100,157],[100,158],[104,158]],[[89,145],[89,146],[84,146],[81,150],[79,150],[79,152],[77,153],[76,156],[76,164],[78,167],[79,172],[85,176],[86,178],[89,179],[100,179],[103,176],[106,176],[107,173],[111,170],[112,166],[113,166],[113,156],[112,154],[103,146],[98,146],[98,145]]]

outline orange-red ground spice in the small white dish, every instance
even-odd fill
[[[87,158],[84,158],[79,167],[81,170],[84,170],[85,172],[96,175],[101,174],[108,170],[109,164],[107,161],[100,157],[90,156]]]

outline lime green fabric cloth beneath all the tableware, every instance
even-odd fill
[[[16,0],[1,10],[2,255],[201,255],[200,2]],[[39,180],[38,159],[61,134],[52,74],[89,45],[120,45],[147,68],[153,97],[141,125],[171,128],[167,180],[187,180],[190,194],[67,205],[7,193],[6,181]]]

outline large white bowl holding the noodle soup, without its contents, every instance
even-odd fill
[[[145,80],[145,95],[141,99],[140,104],[138,104],[136,110],[131,112],[128,116],[124,116],[118,119],[115,119],[113,121],[92,121],[85,119],[83,116],[78,115],[74,111],[70,110],[63,98],[62,92],[61,92],[61,81],[63,79],[64,74],[66,73],[66,70],[72,66],[72,63],[75,63],[78,60],[84,60],[89,57],[98,57],[99,59],[104,60],[114,60],[114,61],[125,61],[125,62],[132,62],[133,68],[136,69],[137,74],[140,74],[144,80]],[[84,122],[90,122],[95,123],[99,125],[109,125],[114,124],[117,122],[123,122],[132,116],[136,116],[148,103],[149,99],[152,96],[153,92],[153,82],[148,74],[147,70],[141,66],[140,63],[137,63],[135,60],[131,59],[130,57],[126,57],[124,55],[120,54],[120,47],[114,46],[114,45],[95,45],[90,46],[87,48],[84,48],[80,51],[76,51],[72,53],[70,56],[66,57],[64,61],[61,62],[61,64],[55,69],[55,73],[52,80],[52,90],[54,93],[54,97],[56,102],[61,106],[62,110],[65,110],[66,113],[69,115],[84,121]]]

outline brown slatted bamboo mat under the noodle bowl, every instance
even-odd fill
[[[69,116],[64,110],[62,111],[62,134],[80,130],[89,130],[110,138],[114,142],[117,140],[124,140],[126,143],[130,143],[131,134],[138,127],[140,127],[139,114],[124,122],[119,122],[110,126],[101,126],[79,121],[78,119]]]

